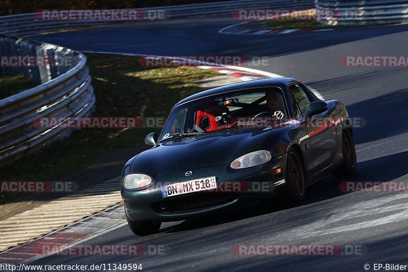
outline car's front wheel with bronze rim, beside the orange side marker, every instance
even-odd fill
[[[285,180],[285,197],[292,202],[303,201],[306,196],[305,175],[302,161],[295,150],[288,152]]]

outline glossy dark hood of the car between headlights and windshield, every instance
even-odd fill
[[[270,130],[222,130],[166,140],[134,159],[131,172],[159,177],[179,171],[231,163],[261,148]]]

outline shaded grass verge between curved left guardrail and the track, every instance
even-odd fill
[[[93,116],[167,116],[182,98],[201,91],[196,80],[219,74],[196,67],[148,68],[137,57],[89,54],[96,95]],[[36,154],[0,168],[3,181],[54,181],[92,160],[133,146],[159,129],[83,129]]]

